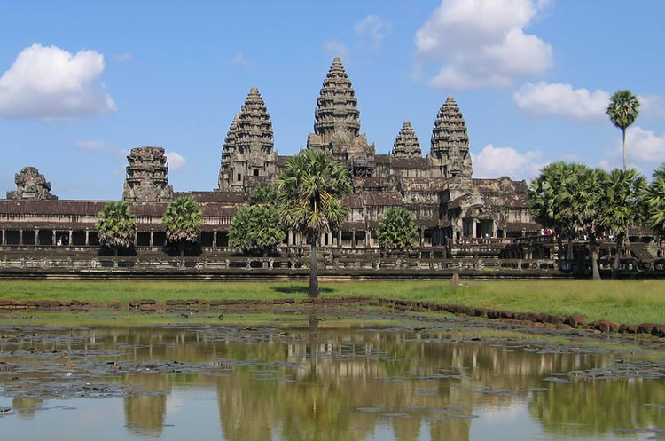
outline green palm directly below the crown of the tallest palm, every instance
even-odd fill
[[[644,193],[645,177],[637,169],[614,169],[608,175],[603,218],[606,228],[614,231],[616,253],[612,265],[612,279],[618,277],[622,249],[630,249],[628,228],[643,221],[645,210],[639,195]]]

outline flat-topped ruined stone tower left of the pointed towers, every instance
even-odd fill
[[[132,148],[127,161],[129,165],[122,201],[173,201],[173,187],[168,185],[168,164],[163,148]]]

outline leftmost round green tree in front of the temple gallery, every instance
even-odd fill
[[[137,217],[125,201],[106,202],[104,209],[97,215],[97,235],[99,243],[113,249],[113,256],[118,256],[121,248],[134,245],[137,234]]]

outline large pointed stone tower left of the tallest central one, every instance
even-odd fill
[[[253,87],[224,138],[219,190],[250,192],[277,176],[278,154],[273,151],[270,114]]]

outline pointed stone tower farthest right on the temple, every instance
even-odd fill
[[[473,169],[469,135],[464,117],[451,96],[436,115],[432,130],[432,149],[428,158],[434,167],[441,170],[442,177],[471,178]]]

